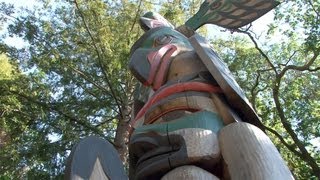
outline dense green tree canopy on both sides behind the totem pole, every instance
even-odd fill
[[[62,178],[72,146],[92,134],[112,142],[125,163],[138,18],[155,10],[179,26],[201,2],[1,3],[0,178]],[[260,37],[251,27],[208,36],[297,179],[320,176],[319,12],[319,1],[283,2]]]

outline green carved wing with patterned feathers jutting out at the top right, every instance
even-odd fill
[[[185,25],[193,30],[204,24],[237,29],[258,19],[278,4],[276,0],[206,0]]]

